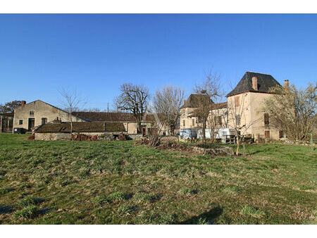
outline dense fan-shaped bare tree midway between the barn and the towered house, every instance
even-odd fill
[[[184,101],[184,94],[184,89],[168,86],[156,91],[153,99],[154,111],[160,115],[161,123],[168,127],[169,133],[172,135],[174,135],[180,118],[180,108]]]

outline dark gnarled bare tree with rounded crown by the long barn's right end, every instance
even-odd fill
[[[115,99],[116,108],[131,112],[137,121],[137,130],[141,131],[141,122],[147,111],[149,89],[144,85],[122,84],[120,95]]]

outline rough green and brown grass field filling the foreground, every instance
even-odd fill
[[[316,224],[316,150],[239,157],[0,135],[1,224]]]

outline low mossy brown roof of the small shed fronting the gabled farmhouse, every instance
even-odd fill
[[[70,123],[47,123],[36,130],[37,133],[70,132]],[[74,122],[73,132],[125,132],[123,123]]]

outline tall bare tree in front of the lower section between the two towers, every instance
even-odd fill
[[[197,95],[197,109],[189,114],[189,117],[197,118],[197,123],[201,128],[203,140],[206,143],[206,126],[211,112],[211,105],[213,100],[217,101],[221,96],[220,90],[220,75],[212,73],[206,73],[205,80],[201,84],[196,84],[194,87],[194,93]]]

